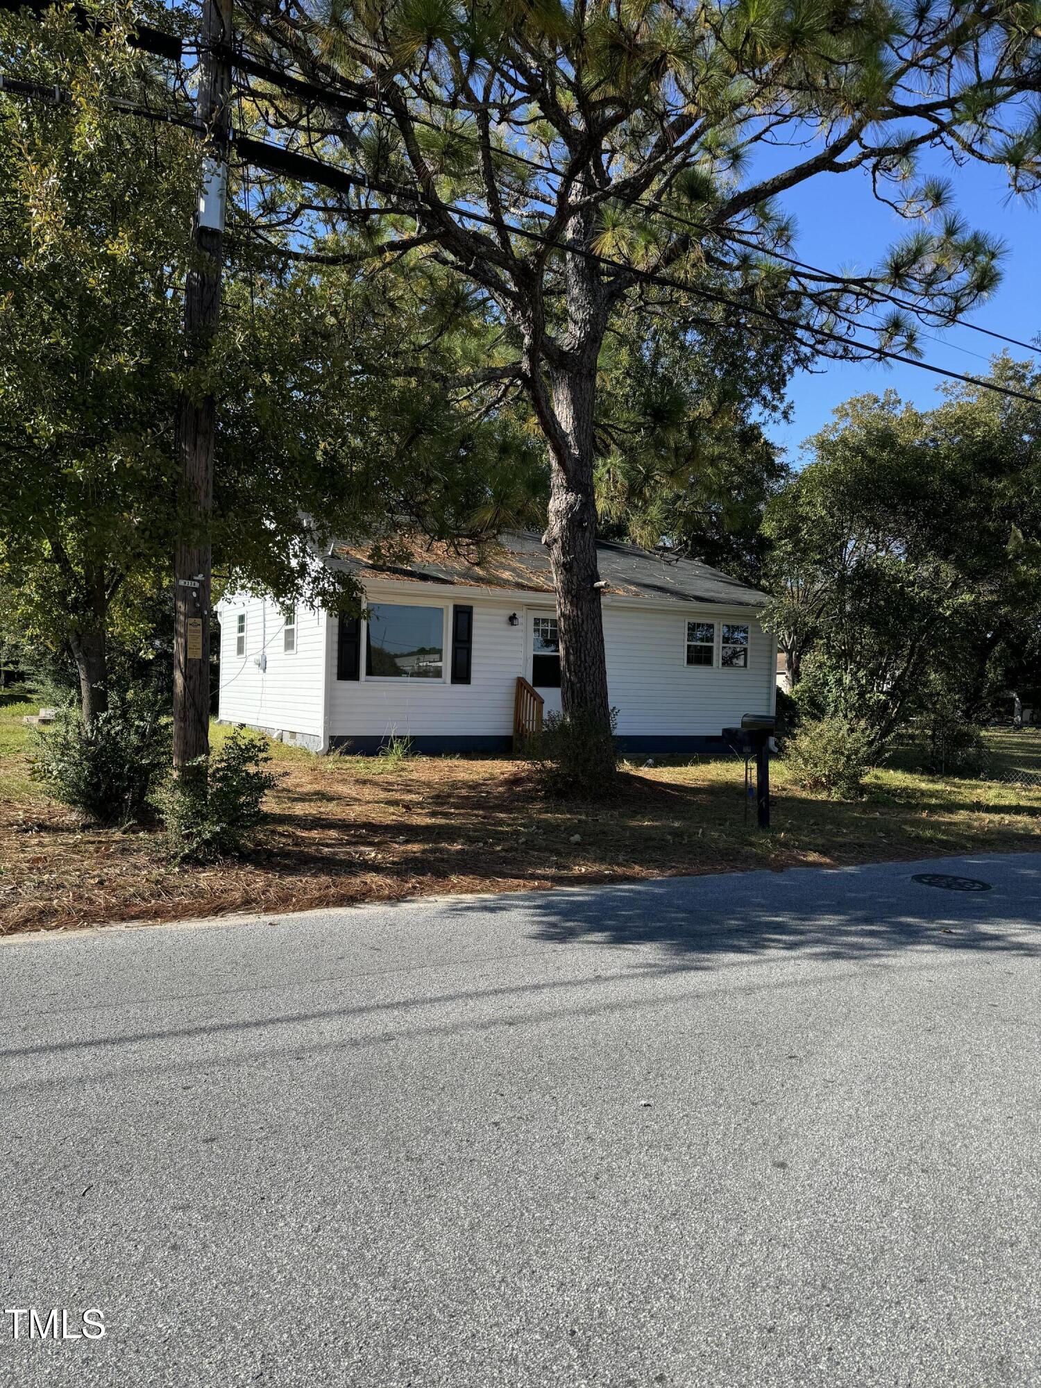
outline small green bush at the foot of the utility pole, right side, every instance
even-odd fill
[[[179,863],[215,862],[242,854],[264,820],[275,777],[266,738],[236,727],[219,752],[200,759],[196,775],[172,781],[162,797],[167,852]]]

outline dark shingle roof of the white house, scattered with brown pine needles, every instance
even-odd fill
[[[466,587],[552,593],[550,557],[541,539],[529,530],[507,530],[494,543],[471,555],[426,540],[394,541],[405,557],[375,561],[368,544],[336,543],[332,558],[364,577],[403,579],[408,583],[454,583]],[[673,559],[632,544],[601,540],[597,544],[605,593],[662,602],[718,602],[727,607],[761,607],[756,589],[727,577],[697,559]]]

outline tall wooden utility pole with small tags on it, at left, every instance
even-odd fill
[[[207,144],[185,290],[185,358],[207,365],[221,312],[223,219],[232,93],[232,0],[203,0],[196,114]],[[174,555],[174,770],[210,752],[210,518],[214,505],[217,405],[189,389],[178,403],[179,537]],[[201,777],[200,777],[201,779]]]

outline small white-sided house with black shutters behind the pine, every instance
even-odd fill
[[[507,751],[518,711],[559,711],[561,659],[550,561],[534,534],[507,533],[479,562],[411,545],[379,568],[357,545],[323,561],[365,590],[366,618],[283,612],[225,597],[222,722],[266,729],[325,752]],[[601,543],[608,690],[629,751],[722,745],[743,713],[772,712],[776,643],[756,618],[763,594],[690,559]],[[539,700],[529,693],[534,688]]]

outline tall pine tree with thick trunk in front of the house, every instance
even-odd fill
[[[312,235],[326,253],[382,246],[409,272],[433,260],[501,325],[458,384],[523,394],[533,411],[564,709],[605,727],[595,476],[611,326],[675,303],[690,312],[669,280],[701,296],[704,333],[766,311],[837,351],[822,335],[841,337],[876,291],[960,312],[992,289],[998,248],[951,211],[945,185],[916,178],[917,153],[999,164],[1022,192],[1038,179],[1037,18],[1022,3],[246,0],[240,12],[255,56],[333,93],[321,110],[258,83],[257,110],[291,150],[354,179],[301,193],[297,248]],[[773,258],[791,236],[777,198],[856,171],[912,235],[865,275]],[[898,310],[877,333],[913,341]]]

